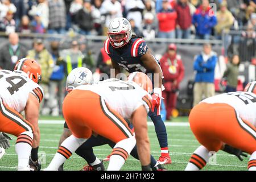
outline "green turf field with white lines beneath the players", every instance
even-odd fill
[[[48,119],[48,118],[42,118]],[[51,118],[52,119],[52,118]],[[176,118],[175,122],[179,125],[187,121],[187,118]],[[172,122],[167,122],[172,123]],[[60,135],[63,131],[63,124],[40,124],[41,131],[41,143],[39,148],[40,158],[44,163],[42,168],[46,168],[53,155],[57,150]],[[167,126],[168,140],[170,153],[172,158],[172,164],[166,165],[168,170],[184,170],[192,152],[199,146],[199,143],[193,137],[189,126]],[[154,126],[148,126],[148,134],[151,143],[151,154],[158,159],[159,144],[156,138]],[[2,170],[15,170],[17,165],[17,156],[15,154],[15,137],[11,141],[11,148],[6,151],[6,155],[0,160],[0,171]],[[95,147],[94,152],[98,158],[105,158],[106,155],[110,154],[111,148],[108,145]],[[226,154],[225,152],[218,152],[216,160],[212,159],[212,164],[204,168],[204,170],[246,170],[248,158],[240,162],[236,156]],[[65,170],[79,170],[84,166],[85,161],[78,155],[74,154],[65,163]],[[107,167],[108,162],[105,163]],[[138,160],[132,156],[129,157],[122,170],[140,170],[141,165]]]

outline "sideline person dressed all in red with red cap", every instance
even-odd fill
[[[163,91],[164,104],[166,105],[166,119],[170,119],[172,116],[172,110],[176,107],[177,102],[177,90],[179,90],[179,84],[184,77],[184,65],[180,56],[177,56],[177,47],[175,44],[168,46],[166,54],[160,60],[160,66],[164,76]]]

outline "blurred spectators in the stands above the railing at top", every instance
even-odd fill
[[[110,20],[123,16],[144,38],[220,39],[222,31],[255,30],[255,4],[255,0],[1,0],[0,31],[64,34],[72,28],[84,35],[106,35]]]

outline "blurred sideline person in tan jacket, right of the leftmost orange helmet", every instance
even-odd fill
[[[27,57],[35,59],[41,66],[42,80],[40,81],[40,86],[44,90],[44,99],[40,104],[40,113],[42,115],[48,115],[50,111],[47,104],[49,100],[49,78],[52,75],[54,62],[51,53],[44,47],[43,39],[34,40],[34,48],[28,51]]]

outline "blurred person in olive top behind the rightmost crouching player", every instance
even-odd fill
[[[233,55],[229,59],[229,63],[226,65],[226,71],[223,78],[227,81],[225,92],[236,92],[238,84],[240,58],[238,55]]]

